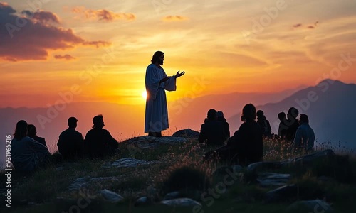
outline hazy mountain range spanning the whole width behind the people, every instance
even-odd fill
[[[337,80],[323,80],[313,87],[298,87],[278,93],[231,93],[211,94],[194,99],[183,98],[169,102],[170,136],[179,129],[199,131],[209,109],[223,111],[234,133],[241,125],[240,112],[245,104],[252,103],[264,111],[273,133],[278,130],[277,114],[296,107],[308,114],[310,126],[315,131],[317,143],[330,142],[338,146],[356,148],[355,126],[356,84]],[[38,136],[46,138],[50,151],[56,150],[56,141],[61,131],[68,128],[67,119],[78,119],[77,130],[85,133],[91,129],[93,116],[103,114],[105,129],[118,141],[142,136],[145,120],[144,105],[122,105],[107,102],[77,102],[48,108],[0,108],[0,135],[13,134],[16,122],[24,119],[37,127]],[[4,143],[5,140],[1,140]],[[5,146],[0,148],[4,153]],[[2,154],[1,154],[2,156]],[[1,159],[0,159],[1,160]]]

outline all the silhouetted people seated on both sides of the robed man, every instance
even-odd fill
[[[309,126],[308,115],[300,114],[298,109],[290,107],[287,116],[278,114],[281,121],[278,137],[291,147],[313,151],[315,134]],[[226,163],[248,165],[263,160],[263,136],[269,137],[271,125],[264,112],[256,111],[253,104],[246,104],[241,112],[243,122],[230,136],[229,123],[222,111],[209,109],[198,137],[198,143],[206,146],[219,146],[204,155],[204,160],[221,160]],[[58,139],[58,152],[64,161],[76,161],[81,158],[105,158],[120,153],[118,142],[103,127],[103,115],[93,117],[93,126],[83,137],[76,131],[78,119],[68,119],[68,129],[61,132]],[[32,172],[51,162],[51,153],[45,138],[37,136],[36,126],[21,120],[17,122],[14,138],[11,141],[11,161],[15,170]]]

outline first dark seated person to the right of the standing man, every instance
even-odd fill
[[[216,110],[210,109],[204,124],[201,124],[198,142],[206,145],[221,145],[224,141],[224,126],[216,120]]]

